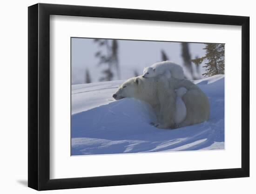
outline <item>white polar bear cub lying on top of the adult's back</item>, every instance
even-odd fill
[[[167,78],[174,77],[179,80],[184,79],[183,68],[169,60],[157,62],[143,70],[143,78],[156,77],[157,75],[165,75]]]

